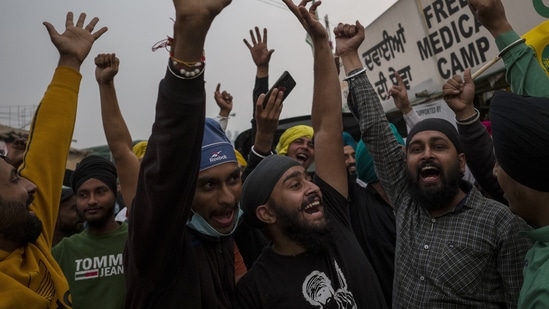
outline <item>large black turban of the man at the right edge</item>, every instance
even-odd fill
[[[549,99],[498,91],[490,121],[501,168],[517,182],[549,192]]]

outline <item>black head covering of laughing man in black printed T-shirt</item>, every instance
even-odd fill
[[[265,226],[265,222],[255,215],[255,210],[259,205],[267,203],[280,177],[294,166],[300,166],[295,159],[271,155],[263,159],[250,173],[242,187],[240,199],[240,208],[244,211],[246,223],[256,228]]]

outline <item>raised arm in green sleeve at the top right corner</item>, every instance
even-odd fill
[[[506,79],[514,93],[549,97],[549,77],[530,47],[519,43],[519,35],[507,20],[501,0],[468,0],[475,18],[492,34],[507,69]],[[519,43],[519,44],[514,44]]]

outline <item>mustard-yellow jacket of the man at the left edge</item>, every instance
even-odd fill
[[[20,173],[37,186],[30,209],[43,231],[35,243],[0,250],[0,308],[71,308],[69,285],[51,246],[81,79],[73,69],[57,68],[34,116]]]

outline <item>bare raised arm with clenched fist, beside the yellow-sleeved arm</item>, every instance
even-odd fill
[[[95,79],[99,85],[101,119],[107,144],[114,158],[120,191],[126,204],[128,216],[139,174],[139,159],[133,153],[130,131],[118,106],[114,77],[118,73],[119,59],[115,54],[99,54],[95,57]]]

